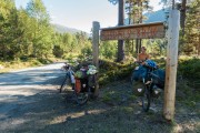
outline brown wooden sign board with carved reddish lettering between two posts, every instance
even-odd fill
[[[144,23],[124,27],[101,29],[100,39],[128,40],[128,39],[154,39],[164,37],[163,22]]]

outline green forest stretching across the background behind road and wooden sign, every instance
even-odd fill
[[[109,0],[110,1],[110,0]],[[112,4],[111,2],[108,4]],[[166,22],[170,3],[160,1],[166,6]],[[86,32],[59,33],[50,23],[50,16],[42,0],[30,0],[26,8],[17,9],[14,0],[0,0],[0,62],[26,62],[28,60],[44,61],[49,59],[84,59],[92,53],[91,37]],[[126,0],[124,17],[128,24],[142,23],[147,17],[144,12],[152,11],[149,0]],[[200,1],[192,0],[179,3],[181,12],[181,29],[179,41],[179,55],[198,58],[200,55]],[[153,58],[166,55],[167,39],[124,40],[119,47],[117,41],[100,42],[100,59],[119,61],[120,59],[136,58],[141,45],[148,48]],[[123,54],[118,54],[123,51]],[[121,61],[120,60],[120,61]],[[46,62],[46,61],[44,61]],[[36,63],[37,64],[37,63]]]

